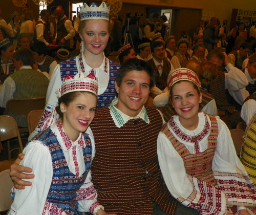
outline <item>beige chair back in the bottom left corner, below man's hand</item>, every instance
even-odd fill
[[[0,172],[0,211],[9,210],[12,204],[10,190],[13,187],[13,183],[9,174],[10,169]]]

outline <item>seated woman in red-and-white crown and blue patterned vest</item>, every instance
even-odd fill
[[[82,87],[81,87],[82,86]],[[98,81],[94,74],[67,75],[59,89],[59,120],[30,141],[22,165],[33,169],[32,186],[12,189],[9,214],[106,215],[97,202],[90,166],[95,153],[91,141],[97,104]]]

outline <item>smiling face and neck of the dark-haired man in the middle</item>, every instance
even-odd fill
[[[136,117],[150,94],[150,76],[145,71],[129,71],[119,87],[115,82],[115,88],[118,93],[117,109],[130,117]]]

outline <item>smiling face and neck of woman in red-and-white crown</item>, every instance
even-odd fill
[[[75,141],[80,132],[85,132],[91,124],[97,104],[97,97],[90,93],[80,93],[68,105],[61,103],[62,126],[65,133]]]

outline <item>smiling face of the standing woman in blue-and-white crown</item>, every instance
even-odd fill
[[[109,22],[102,19],[86,20],[79,33],[85,47],[84,55],[98,55],[104,51],[109,41]]]

